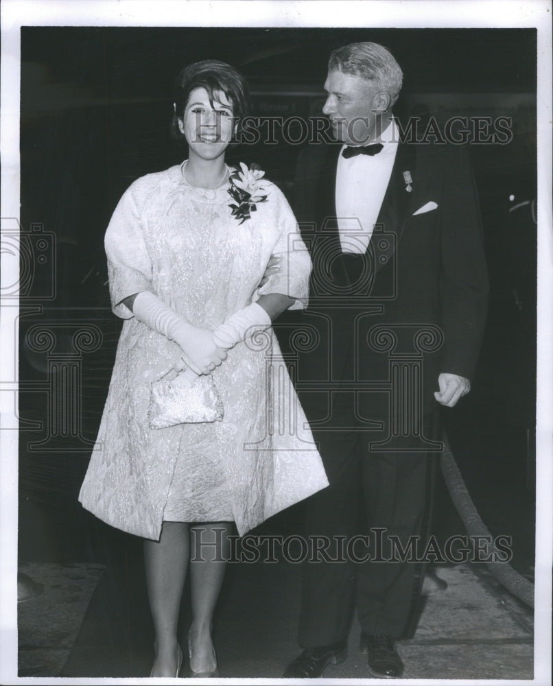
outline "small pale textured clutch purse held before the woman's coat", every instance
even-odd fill
[[[191,369],[172,369],[152,381],[148,418],[151,429],[176,424],[221,421],[223,402],[211,374],[196,375]]]

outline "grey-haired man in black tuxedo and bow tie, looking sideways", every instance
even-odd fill
[[[294,322],[305,333],[296,384],[330,486],[305,503],[305,650],[285,678],[317,678],[346,659],[353,604],[370,673],[403,674],[395,640],[413,630],[423,579],[436,409],[469,392],[484,329],[467,154],[400,141],[402,78],[375,43],[334,51],[322,111],[342,145],[311,145],[298,159],[296,217],[313,272]]]

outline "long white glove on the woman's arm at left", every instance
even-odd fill
[[[209,373],[226,357],[217,348],[213,334],[193,327],[150,291],[142,291],[134,298],[132,312],[139,322],[176,342],[196,374]]]

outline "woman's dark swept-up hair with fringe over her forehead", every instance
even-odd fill
[[[184,119],[190,93],[195,88],[205,88],[212,107],[215,93],[217,91],[224,93],[233,106],[235,121],[238,127],[240,126],[240,121],[248,109],[249,92],[246,79],[230,64],[218,60],[203,60],[189,64],[178,73],[174,80],[175,113],[171,122],[171,134],[174,139],[186,142],[184,134],[178,128],[178,119],[181,121]]]

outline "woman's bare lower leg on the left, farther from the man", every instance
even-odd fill
[[[154,620],[156,656],[151,676],[175,676],[177,624],[189,560],[189,525],[164,521],[159,541],[144,541],[148,598]]]

